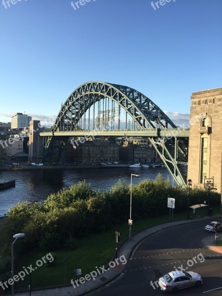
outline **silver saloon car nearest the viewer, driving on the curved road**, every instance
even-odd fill
[[[177,292],[191,286],[200,286],[201,276],[193,271],[174,270],[159,278],[158,285],[162,291]]]

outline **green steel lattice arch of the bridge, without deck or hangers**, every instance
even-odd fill
[[[123,85],[91,81],[76,88],[59,111],[52,128],[52,136],[48,136],[45,141],[43,161],[59,161],[69,140],[68,136],[55,137],[54,132],[75,130],[84,113],[105,98],[111,99],[122,108],[126,116],[130,115],[141,129],[157,126],[160,129],[177,128],[156,104],[139,91]],[[168,138],[148,136],[176,183],[186,186],[184,165],[187,163],[188,139],[176,135]]]

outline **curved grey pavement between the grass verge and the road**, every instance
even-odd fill
[[[92,295],[94,292],[102,290],[106,288],[106,286],[111,285],[113,282],[117,281],[119,278],[123,276],[123,270],[125,268],[126,260],[129,260],[134,253],[136,252],[137,246],[147,237],[157,231],[161,231],[163,229],[182,225],[186,223],[193,223],[193,222],[199,222],[199,221],[205,221],[205,220],[211,220],[215,221],[217,218],[222,218],[221,214],[216,214],[211,217],[200,217],[195,218],[191,220],[180,220],[180,221],[172,221],[172,222],[166,222],[157,224],[155,226],[148,227],[147,229],[144,229],[143,231],[140,231],[136,234],[134,234],[131,239],[127,239],[124,242],[122,242],[117,250],[117,256],[113,256],[113,259],[111,262],[109,262],[109,265],[105,266],[105,269],[97,269],[95,267],[95,270],[92,270],[92,274],[95,275],[98,270],[101,274],[98,274],[97,276],[94,276],[94,279],[89,279],[89,277],[85,277],[85,279],[82,280],[84,283],[77,284],[74,282],[74,286],[66,286],[66,287],[57,287],[57,288],[49,288],[49,289],[42,289],[42,290],[33,290],[32,296],[80,296],[80,295]],[[222,234],[220,233],[218,235],[218,239],[222,238]],[[222,247],[215,247],[215,237],[212,236],[206,236],[202,239],[201,244],[204,247],[210,248],[211,250],[221,253],[222,254]],[[117,259],[116,259],[117,258]],[[115,260],[116,259],[116,260]],[[126,259],[126,260],[125,260]],[[101,266],[102,267],[102,266]],[[74,279],[75,280],[75,279]],[[20,292],[15,293],[15,296],[29,296],[30,292]]]

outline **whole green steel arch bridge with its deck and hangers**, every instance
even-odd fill
[[[124,130],[120,129],[120,109],[125,112]],[[92,130],[89,129],[90,111],[93,113]],[[98,122],[101,113],[102,124]],[[116,113],[118,122],[114,129]],[[97,114],[98,117],[95,118]],[[127,122],[127,116],[132,119],[132,129],[127,129],[127,123],[129,127],[131,123],[130,120]],[[113,121],[111,129],[108,129],[108,121]],[[59,111],[52,131],[40,133],[44,137],[43,161],[58,162],[70,136],[84,136],[93,131],[113,136],[139,136],[142,133],[155,148],[176,183],[186,186],[188,133],[184,134],[178,129],[157,105],[139,91],[101,81],[87,82],[76,88]]]

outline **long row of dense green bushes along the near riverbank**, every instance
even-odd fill
[[[187,209],[187,189],[170,186],[159,174],[132,187],[133,219],[165,215],[167,198],[176,198],[178,212]],[[208,201],[208,192],[193,188],[189,204]],[[210,205],[220,204],[220,195],[210,192]],[[44,202],[18,203],[0,224],[0,258],[10,255],[8,246],[16,232],[24,232],[15,256],[38,248],[45,251],[73,250],[79,237],[111,229],[129,219],[130,186],[119,180],[108,192],[93,190],[85,181],[51,194]],[[24,247],[26,248],[24,250]]]

